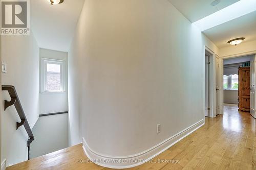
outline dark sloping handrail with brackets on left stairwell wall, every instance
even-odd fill
[[[28,133],[28,136],[29,136],[29,139],[28,139],[28,159],[30,159],[30,156],[29,156],[29,151],[30,151],[30,143],[35,139],[34,138],[34,135],[31,131],[31,128],[29,126],[29,123],[28,123],[28,120],[26,118],[26,115],[24,113],[24,110],[22,108],[22,104],[20,104],[20,101],[18,99],[18,94],[16,92],[16,89],[14,86],[2,86],[2,90],[5,90],[5,91],[8,91],[9,94],[10,94],[10,97],[11,97],[11,101],[7,101],[5,100],[5,110],[9,107],[9,106],[12,106],[14,105],[17,112],[18,112],[18,115],[20,117],[20,120],[21,122],[17,122],[16,123],[16,129],[18,129],[20,126],[24,126],[25,130],[27,131]]]

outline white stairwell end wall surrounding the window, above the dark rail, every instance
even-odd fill
[[[68,111],[68,53],[40,48],[41,58],[64,60],[66,80],[65,92],[40,93],[40,114]]]

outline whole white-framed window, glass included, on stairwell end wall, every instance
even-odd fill
[[[65,61],[41,59],[41,92],[65,91]]]

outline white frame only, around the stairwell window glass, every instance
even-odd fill
[[[50,91],[46,89],[47,82],[47,64],[60,65],[60,90]],[[65,92],[65,61],[50,58],[41,58],[41,93],[59,93]]]

